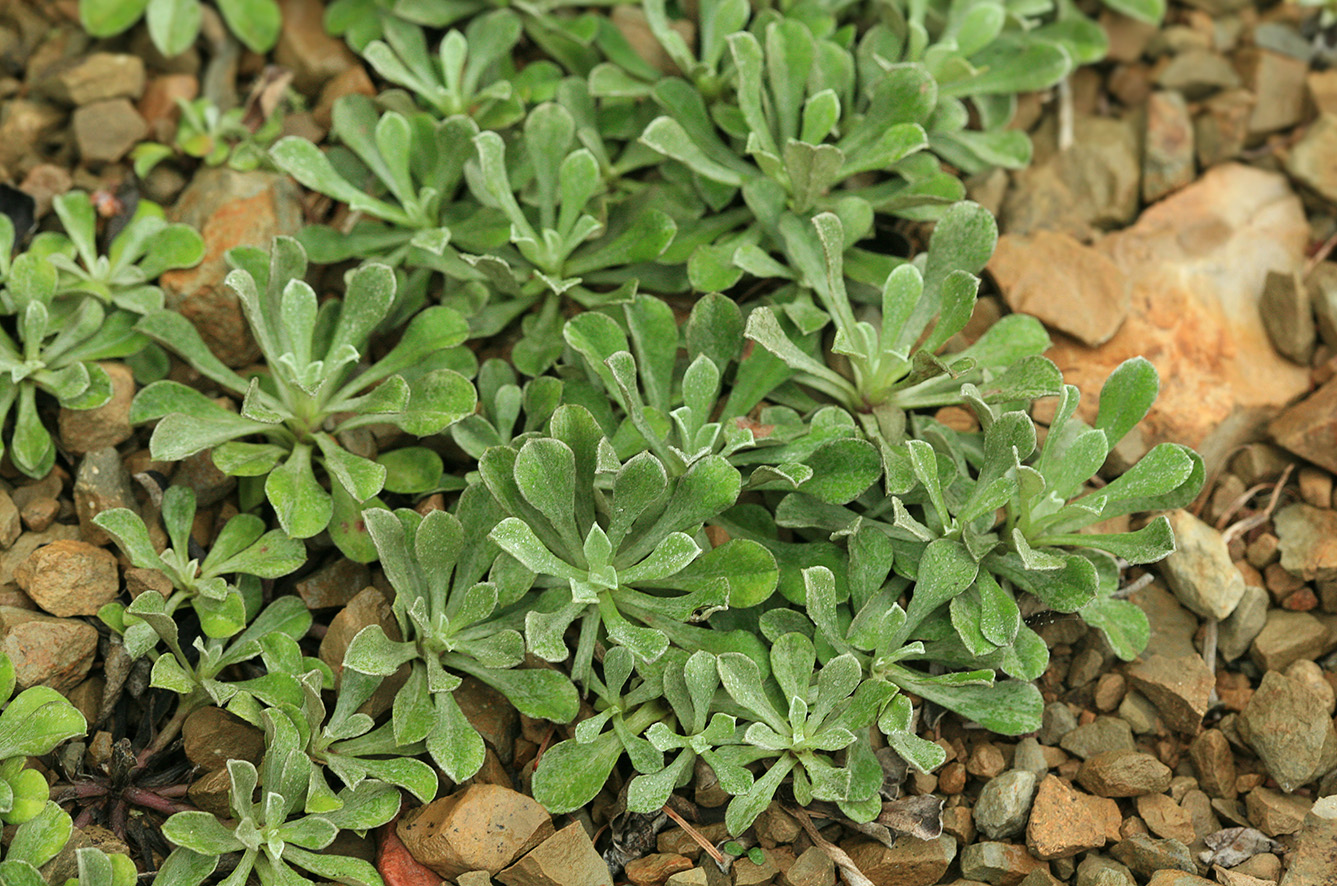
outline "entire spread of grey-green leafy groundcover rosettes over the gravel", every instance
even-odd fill
[[[253,49],[278,33],[270,0],[214,5]],[[156,207],[99,243],[92,200],[56,198],[64,233],[17,257],[0,219],[13,465],[51,470],[47,417],[106,401],[100,361],[154,380],[131,418],[162,482],[92,519],[159,573],[99,612],[130,676],[98,728],[142,723],[122,758],[142,775],[186,766],[202,708],[265,734],[258,766],[227,764],[225,815],[166,788],[136,841],[163,886],[384,886],[342,831],[509,756],[471,722],[480,692],[544,735],[516,783],[552,813],[658,815],[713,779],[745,843],[777,799],[873,822],[889,755],[944,762],[944,711],[1036,730],[1048,648],[1023,613],[1075,613],[1123,659],[1147,641],[1120,571],[1174,549],[1155,512],[1202,461],[1163,444],[1107,469],[1155,400],[1147,361],[1079,412],[1039,321],[971,322],[997,226],[960,199],[959,174],[1029,160],[1019,92],[1103,33],[1066,3],[646,0],[642,55],[598,5],[330,3],[390,88],[336,102],[329,150],[191,106],[182,151],[225,162],[235,136],[233,162],[320,195],[322,223],[227,255],[257,366],[168,307],[158,274],[203,241]],[[80,4],[94,33],[143,19],[168,49],[205,8]],[[199,460],[235,493],[206,504]],[[386,603],[350,637],[298,584],[336,552]],[[25,764],[84,726],[43,687],[0,711],[4,882],[37,886],[66,843]]]

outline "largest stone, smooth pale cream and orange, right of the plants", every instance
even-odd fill
[[[1267,271],[1298,270],[1308,241],[1286,179],[1230,163],[1096,243],[1128,277],[1128,318],[1100,347],[1059,339],[1048,355],[1082,389],[1088,421],[1115,366],[1139,354],[1155,363],[1161,397],[1122,458],[1177,441],[1198,449],[1210,474],[1308,389],[1308,370],[1277,354],[1258,322]]]

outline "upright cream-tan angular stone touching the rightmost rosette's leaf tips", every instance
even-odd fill
[[[1187,510],[1171,510],[1175,552],[1161,575],[1175,597],[1205,619],[1225,619],[1245,593],[1245,579],[1230,560],[1221,533]]]

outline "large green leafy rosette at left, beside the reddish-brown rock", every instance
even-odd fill
[[[329,528],[348,556],[373,560],[361,506],[386,488],[424,492],[416,488],[418,468],[425,464],[435,482],[440,460],[409,448],[378,461],[349,452],[341,436],[388,424],[424,437],[473,412],[473,386],[456,372],[473,370],[472,355],[456,347],[465,325],[448,307],[429,307],[409,322],[393,350],[365,367],[372,331],[394,303],[390,269],[364,265],[349,273],[342,299],[321,303],[302,279],[306,255],[295,241],[278,238],[271,257],[259,250],[230,255],[237,269],[227,285],[241,298],[269,373],[242,378],[210,353],[185,317],[156,311],[136,329],[241,397],[241,410],[160,381],[139,393],[131,418],[160,420],[150,442],[155,458],[179,460],[209,449],[223,473],[254,478],[283,532],[309,539]],[[328,489],[316,468],[326,476]]]

